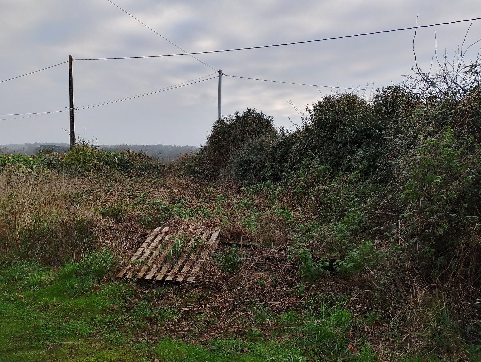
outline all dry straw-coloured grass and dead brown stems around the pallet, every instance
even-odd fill
[[[432,335],[443,336],[446,350],[456,350],[451,346],[463,342],[451,333],[442,296],[436,297],[428,288],[418,286],[405,292],[397,302],[392,301],[391,309],[386,309],[376,294],[379,286],[370,271],[353,276],[319,275],[314,282],[299,278],[298,261],[290,259],[287,250],[292,242],[292,224],[308,223],[315,217],[296,206],[287,191],[274,195],[275,200],[273,192],[249,193],[241,191],[236,183],[213,184],[181,175],[169,175],[162,181],[123,176],[93,180],[56,173],[4,172],[0,175],[0,245],[15,257],[51,263],[78,259],[86,251],[106,245],[115,254],[126,255],[148,235],[146,227],[138,222],[144,212],[138,196],[166,202],[182,197],[185,208],[203,206],[212,211],[212,217],[187,220],[173,215],[156,226],[221,225],[223,243],[239,246],[241,264],[239,270],[223,272],[209,255],[198,283],[172,285],[165,293],[156,294],[154,302],[159,307],[169,306],[182,312],[182,318],[165,322],[163,333],[190,340],[195,329],[190,321],[203,313],[216,321],[203,326],[203,334],[243,335],[253,326],[255,306],[280,315],[300,310],[306,300],[322,293],[333,299],[348,296],[345,307],[359,317],[384,311],[384,321],[378,321],[375,327],[360,325],[352,337],[353,341],[360,336],[367,338],[383,360],[390,360],[393,351],[439,350]],[[71,211],[74,204],[80,213]],[[101,215],[102,207],[119,205],[126,205],[126,215],[121,220],[112,221]],[[279,205],[292,213],[290,222],[273,212]],[[253,220],[252,230],[246,219]],[[299,284],[304,284],[303,295],[298,294]],[[138,287],[142,293],[158,286],[141,282]],[[264,335],[278,328],[271,322],[259,327]]]

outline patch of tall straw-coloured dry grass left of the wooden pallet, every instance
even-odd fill
[[[111,232],[93,216],[108,195],[65,175],[0,174],[0,250],[14,258],[50,263],[78,259]],[[72,207],[78,204],[82,211]]]

